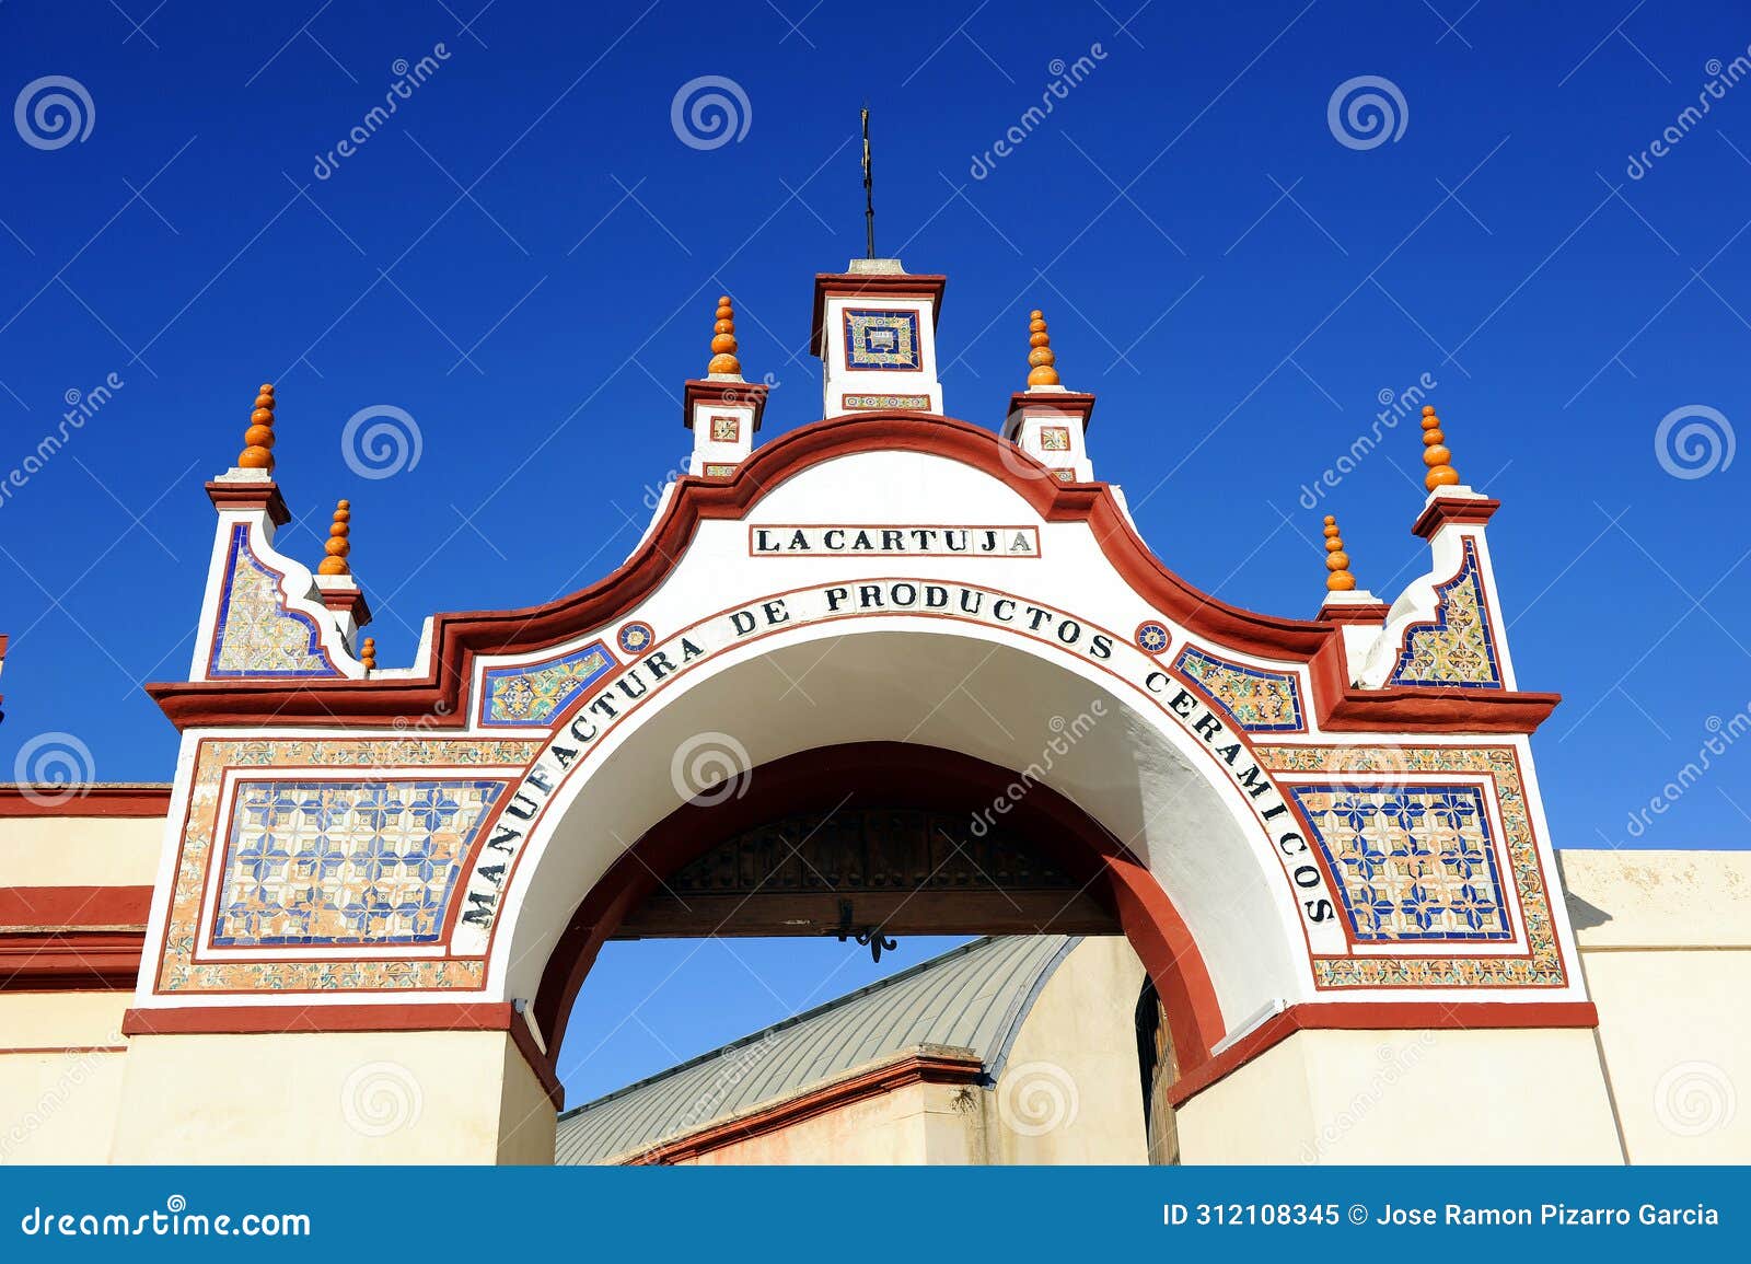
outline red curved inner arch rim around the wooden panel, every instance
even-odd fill
[[[958,751],[905,742],[828,746],[762,763],[748,793],[721,804],[685,804],[634,842],[590,888],[560,933],[536,991],[536,1022],[557,1049],[573,1001],[602,944],[664,877],[720,842],[788,812],[847,802],[981,811],[1009,798],[1007,769]],[[1208,1057],[1222,1036],[1222,1010],[1191,930],[1149,868],[1094,818],[1035,783],[1003,828],[1051,854],[1112,902],[1119,924],[1156,980],[1182,1063]]]

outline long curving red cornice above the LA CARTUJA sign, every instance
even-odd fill
[[[861,280],[861,278],[860,278]],[[916,280],[916,278],[912,278]],[[741,520],[777,483],[823,460],[858,452],[925,452],[958,460],[1007,483],[1047,522],[1086,522],[1114,569],[1168,620],[1203,644],[1229,651],[1306,664],[1313,676],[1311,713],[1320,721],[1334,714],[1336,728],[1408,732],[1530,732],[1548,707],[1476,706],[1476,697],[1441,700],[1436,690],[1417,690],[1399,700],[1382,692],[1352,690],[1343,669],[1341,637],[1331,623],[1285,620],[1229,606],[1199,592],[1168,571],[1136,536],[1105,483],[1061,483],[1010,469],[1009,441],[979,425],[947,417],[905,411],[870,411],[828,417],[791,431],[760,448],[727,480],[683,476],[662,522],[627,562],[581,592],[545,606],[475,614],[438,614],[432,620],[432,665],[424,679],[228,679],[170,681],[147,692],[179,728],[196,725],[259,727],[322,725],[382,727],[403,720],[424,730],[461,728],[468,723],[464,692],[476,655],[531,653],[625,618],[674,569],[706,518]],[[1009,445],[1010,452],[1014,445]],[[1480,693],[1478,690],[1471,692]],[[1434,702],[1424,700],[1434,695]],[[1506,695],[1515,699],[1550,695]],[[1347,711],[1364,706],[1357,721]],[[1476,706],[1476,723],[1466,723]]]

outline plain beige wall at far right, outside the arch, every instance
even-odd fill
[[[1560,860],[1630,1162],[1751,1161],[1751,854]]]

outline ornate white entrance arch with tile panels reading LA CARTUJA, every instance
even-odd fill
[[[893,303],[919,282],[914,315],[940,298],[854,280]],[[881,333],[877,359],[933,338],[840,327],[840,291],[863,291],[821,285],[830,404],[846,338]],[[184,739],[119,1155],[194,1154],[200,1094],[252,1103],[250,1075],[326,1085],[392,1050],[445,1084],[438,1136],[473,1138],[436,1157],[541,1159],[548,1050],[648,870],[900,770],[958,809],[988,793],[1098,879],[1166,1005],[1187,1159],[1297,1154],[1319,1094],[1355,1080],[1348,1029],[1452,1033],[1445,1073],[1502,1101],[1539,1099],[1504,1031],[1560,1045],[1537,1075],[1578,1075],[1593,1017],[1529,744],[1557,699],[1515,681],[1495,502],[1432,481],[1431,571],[1390,606],[1334,579],[1317,620],[1241,611],[1149,551],[1093,481],[1091,397],[1047,385],[1002,436],[851,390],[861,411],[753,450],[763,389],[688,383],[695,473],[625,565],[440,614],[408,667],[361,643],[345,565],[275,550],[259,462],[208,485],[194,662],[152,686]],[[252,1127],[243,1154],[271,1131],[294,1157],[273,1112]],[[401,1154],[306,1131],[315,1157]]]

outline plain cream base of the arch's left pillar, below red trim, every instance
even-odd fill
[[[116,1162],[552,1162],[503,1031],[135,1036]]]

